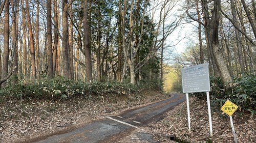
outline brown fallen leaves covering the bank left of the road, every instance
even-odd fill
[[[2,101],[0,142],[31,142],[35,138],[69,130],[107,115],[118,115],[122,110],[166,97],[157,91],[142,91],[140,95],[111,95],[100,99],[75,97],[58,101]]]

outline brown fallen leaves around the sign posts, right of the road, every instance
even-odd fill
[[[170,142],[175,136],[183,142],[234,142],[229,116],[221,109],[211,108],[213,136],[210,136],[207,102],[196,97],[189,99],[191,131],[188,131],[186,102],[165,114],[161,121],[153,122],[148,131],[155,133],[155,139]],[[256,119],[250,112],[234,112],[232,115],[238,142],[256,142]],[[181,141],[182,142],[182,141]]]

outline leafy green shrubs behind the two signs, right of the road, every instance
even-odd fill
[[[229,83],[231,88],[226,89],[219,77],[210,77],[210,98],[211,107],[220,109],[229,99],[238,105],[240,112],[250,111],[256,114],[256,75],[243,75],[242,77],[233,77],[233,82]],[[205,93],[194,93],[199,98],[205,98]]]

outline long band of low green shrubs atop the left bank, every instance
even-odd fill
[[[136,94],[143,88],[158,90],[157,83],[148,82],[141,85],[133,85],[121,82],[83,82],[67,79],[63,76],[55,78],[41,77],[35,81],[18,82],[10,84],[0,90],[2,98],[37,99],[37,100],[59,100],[69,99],[76,96],[87,98],[98,98],[104,95],[129,96]]]

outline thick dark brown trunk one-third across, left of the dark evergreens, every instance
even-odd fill
[[[88,24],[88,0],[84,0],[83,4],[83,26],[84,26],[84,52],[86,56],[86,73],[87,81],[90,82],[93,80],[92,75],[92,64],[91,64],[91,54],[90,54],[90,39],[89,39],[89,24]]]

